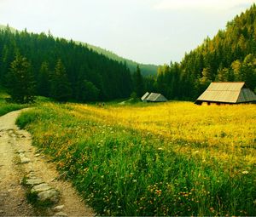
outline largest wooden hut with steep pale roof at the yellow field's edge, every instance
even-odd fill
[[[255,103],[256,95],[245,83],[211,83],[195,104],[239,104]]]

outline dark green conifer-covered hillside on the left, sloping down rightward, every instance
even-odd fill
[[[73,41],[8,27],[0,31],[0,84],[20,85],[22,91],[17,71],[28,72],[21,77],[30,82],[30,91],[57,100],[113,100],[130,96],[132,90],[124,63]]]

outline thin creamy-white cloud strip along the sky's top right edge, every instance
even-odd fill
[[[250,5],[255,3],[254,0],[161,0],[154,5],[154,9],[233,9],[240,5]]]

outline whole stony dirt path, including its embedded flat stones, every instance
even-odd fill
[[[95,215],[49,157],[32,146],[31,135],[15,126],[20,112],[0,117],[0,216]]]

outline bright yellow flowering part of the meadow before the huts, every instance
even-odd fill
[[[73,114],[81,118],[136,128],[172,144],[183,141],[177,151],[201,155],[210,152],[212,157],[222,160],[240,161],[242,157],[242,161],[256,163],[255,105],[196,106],[191,102],[169,102],[149,106],[70,106]]]

